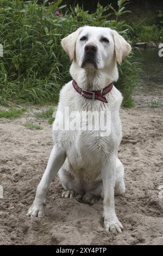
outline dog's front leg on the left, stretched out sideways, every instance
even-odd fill
[[[36,196],[33,202],[33,205],[28,210],[27,215],[31,217],[43,217],[44,210],[43,204],[46,202],[46,193],[55,174],[58,173],[58,170],[64,164],[66,159],[66,153],[54,146],[49,156],[48,164],[45,170],[45,173],[42,176],[42,179],[37,186]]]

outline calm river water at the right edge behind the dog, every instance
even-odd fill
[[[137,61],[143,70],[141,83],[135,92],[135,100],[142,105],[148,100],[163,100],[163,57],[159,57],[159,48],[139,48]]]

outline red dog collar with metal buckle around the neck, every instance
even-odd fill
[[[108,103],[108,101],[106,100],[106,97],[104,95],[109,93],[111,91],[112,87],[113,87],[113,84],[110,83],[109,86],[106,86],[101,91],[100,90],[89,91],[89,90],[84,90],[84,89],[80,88],[78,86],[77,82],[74,81],[74,80],[72,80],[72,85],[73,85],[73,88],[79,94],[81,94],[82,97],[84,97],[85,99],[100,100],[100,101],[103,101],[105,103]]]

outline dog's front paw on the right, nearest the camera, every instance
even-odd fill
[[[111,232],[114,234],[122,233],[123,225],[120,221],[118,221],[118,218],[113,220],[105,220],[104,219],[104,229],[107,233]]]

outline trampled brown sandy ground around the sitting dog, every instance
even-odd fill
[[[44,107],[45,108],[45,107]],[[37,108],[41,111],[42,108]],[[121,109],[123,140],[119,156],[125,167],[126,193],[116,197],[122,234],[106,234],[103,203],[81,204],[62,199],[55,178],[47,195],[46,217],[26,216],[52,149],[52,126],[34,118],[31,107],[22,118],[0,123],[0,244],[18,245],[163,245],[162,108]],[[24,122],[43,126],[28,130]]]

